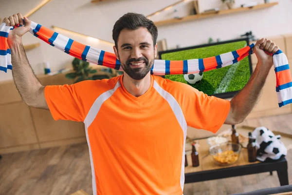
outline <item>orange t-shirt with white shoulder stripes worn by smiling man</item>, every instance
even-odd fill
[[[230,102],[157,76],[137,98],[122,78],[46,86],[52,116],[85,123],[93,195],[182,195],[187,126],[215,133]]]

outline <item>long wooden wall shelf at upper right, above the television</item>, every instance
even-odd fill
[[[217,13],[212,13],[212,14],[197,14],[197,15],[190,15],[186,16],[180,19],[169,19],[169,20],[161,20],[161,21],[156,21],[154,22],[156,26],[163,26],[167,24],[174,24],[174,23],[180,23],[180,22],[185,22],[185,21],[190,21],[190,20],[200,20],[204,18],[211,18],[219,15],[227,15],[227,14],[233,14],[233,13],[238,13],[238,12],[245,12],[245,11],[250,11],[250,10],[257,10],[257,9],[263,9],[263,8],[268,8],[272,7],[274,5],[279,4],[278,2],[271,2],[271,3],[264,3],[264,4],[258,4],[253,7],[239,7],[235,9],[228,9],[228,10],[220,10]]]

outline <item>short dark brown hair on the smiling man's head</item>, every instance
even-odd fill
[[[155,46],[158,31],[154,22],[147,19],[143,14],[127,13],[116,21],[112,29],[112,39],[114,40],[116,48],[118,48],[119,35],[124,28],[136,30],[140,27],[147,28],[149,33],[152,35],[153,46]]]

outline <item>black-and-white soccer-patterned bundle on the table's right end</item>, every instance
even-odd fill
[[[281,136],[266,127],[257,127],[252,133],[256,137],[256,158],[259,161],[271,161],[287,155],[287,148],[280,141]]]

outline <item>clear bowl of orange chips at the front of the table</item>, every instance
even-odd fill
[[[211,146],[210,155],[216,164],[221,166],[231,165],[237,162],[241,151],[241,145],[237,143],[222,143]]]

